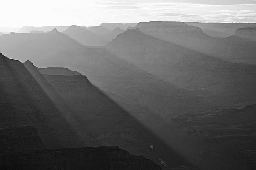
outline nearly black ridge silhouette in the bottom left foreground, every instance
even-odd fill
[[[0,136],[0,169],[161,169],[152,160],[133,156],[119,147],[44,149],[38,131],[31,126],[0,129]],[[19,152],[21,149],[23,152]]]

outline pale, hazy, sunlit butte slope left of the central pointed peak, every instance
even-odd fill
[[[62,33],[70,36],[72,39],[85,46],[104,46],[108,43],[108,40],[104,37],[95,34],[91,30],[76,25],[68,27],[68,29]]]

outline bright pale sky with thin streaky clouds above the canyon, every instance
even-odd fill
[[[0,27],[140,21],[256,22],[256,0],[2,0]]]

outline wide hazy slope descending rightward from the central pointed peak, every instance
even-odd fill
[[[240,106],[246,100],[249,103],[255,101],[255,97],[250,94],[256,90],[256,67],[253,65],[222,61],[156,39],[140,32],[138,28],[118,35],[106,49],[181,88],[184,90],[184,94],[178,92],[181,95],[201,96],[198,104],[209,108],[214,105],[234,106],[235,103]]]

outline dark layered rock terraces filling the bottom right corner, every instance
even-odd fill
[[[256,105],[181,115],[162,128],[200,169],[255,169]],[[182,141],[182,142],[181,142]]]

